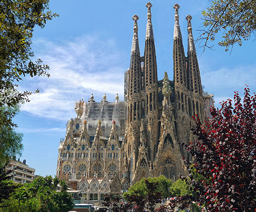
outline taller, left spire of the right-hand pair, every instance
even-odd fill
[[[179,24],[179,4],[174,4],[175,10],[175,24],[173,34],[173,71],[174,71],[174,86],[181,88],[188,87],[187,85],[187,72],[184,48],[182,44],[182,37]]]

